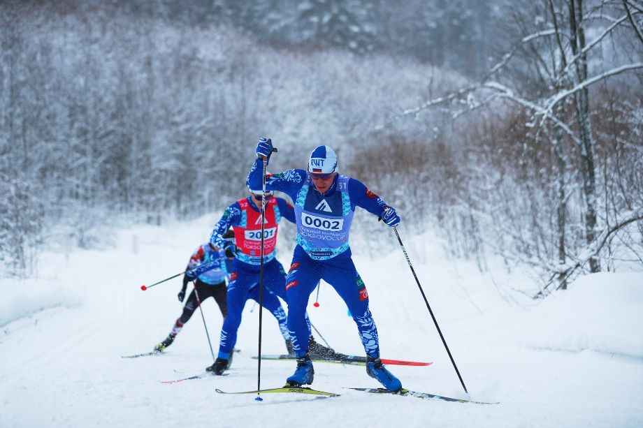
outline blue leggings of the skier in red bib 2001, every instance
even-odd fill
[[[248,299],[259,302],[259,266],[234,260],[231,268],[231,281],[228,284],[228,315],[224,319],[219,340],[219,357],[228,359],[237,342],[237,330],[241,325],[241,313]],[[285,296],[284,267],[277,259],[263,265],[263,307],[277,318],[284,339],[289,339],[286,326],[286,313],[277,296]],[[285,299],[284,299],[285,300]]]

